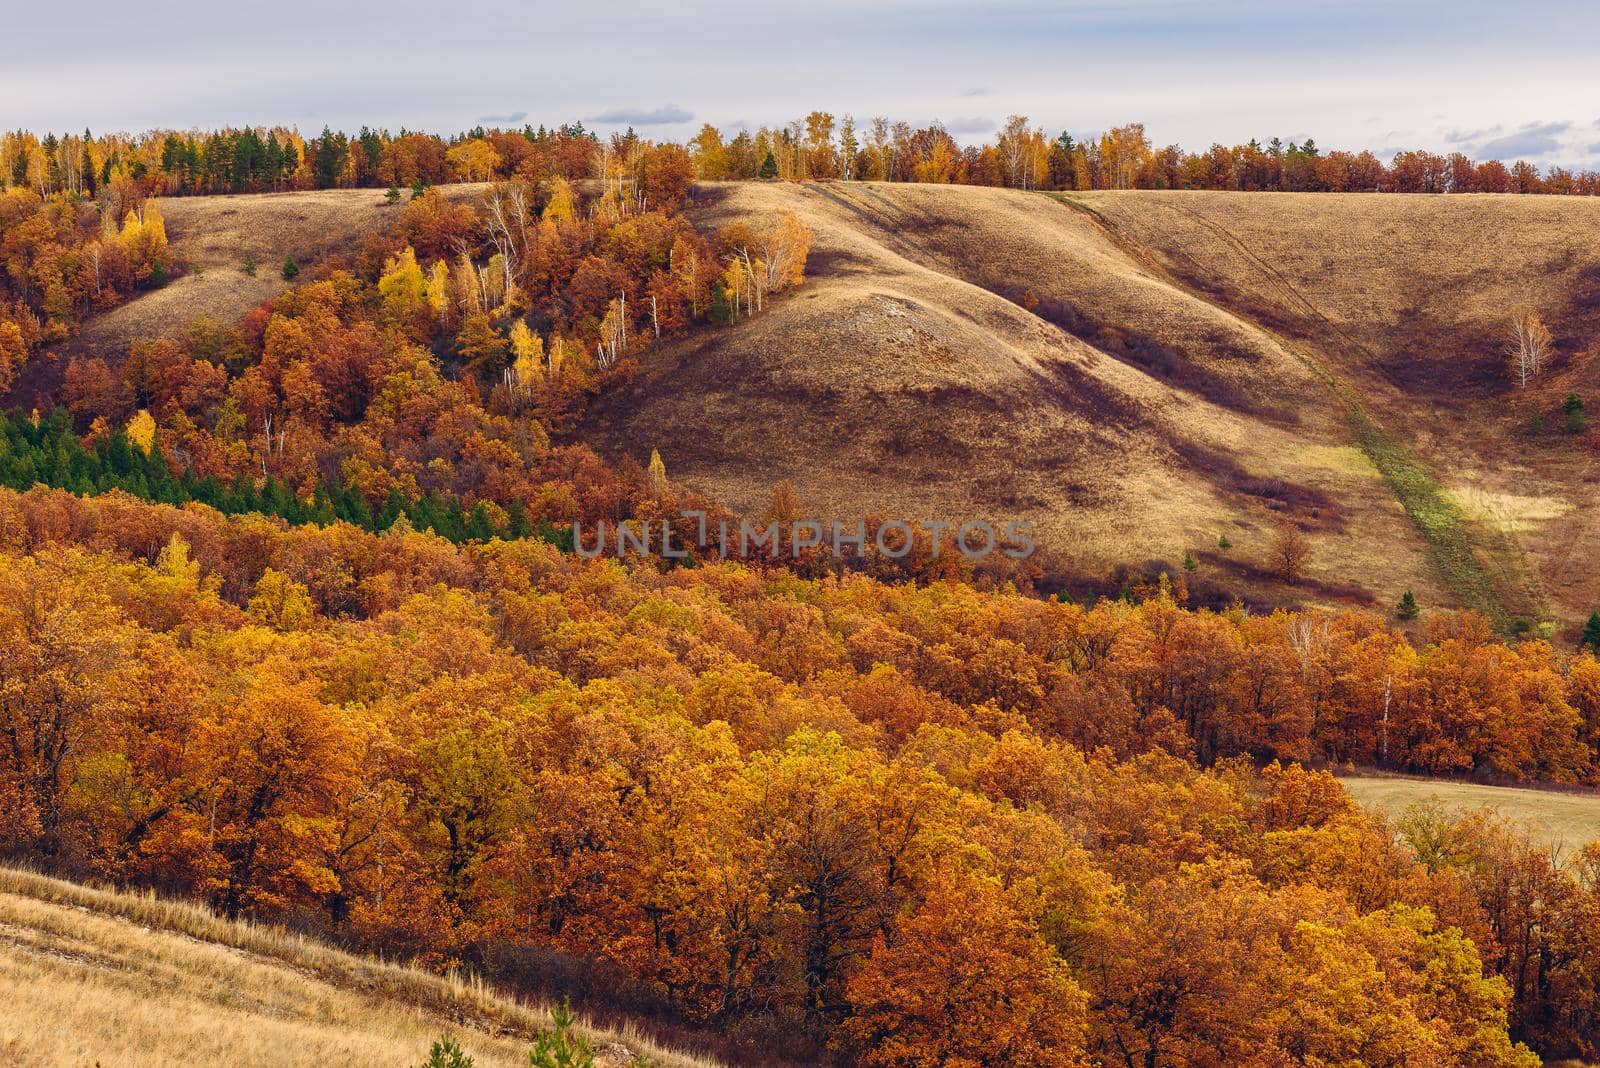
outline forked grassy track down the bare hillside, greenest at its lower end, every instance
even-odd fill
[[[1194,286],[1173,277],[1146,246],[1126,237],[1114,222],[1099,211],[1067,193],[1045,193],[1056,203],[1072,211],[1088,216],[1107,235],[1107,238],[1131,256],[1147,270],[1162,280],[1182,289],[1197,301],[1203,301],[1234,318],[1248,321],[1256,329],[1270,336],[1285,352],[1304,363],[1312,374],[1322,379],[1333,392],[1339,404],[1344,406],[1346,420],[1355,435],[1355,441],[1373,467],[1382,475],[1400,507],[1416,528],[1422,540],[1427,542],[1429,556],[1445,585],[1456,595],[1464,608],[1483,612],[1494,620],[1494,625],[1509,633],[1512,620],[1533,617],[1533,622],[1547,617],[1542,598],[1538,593],[1534,579],[1520,548],[1506,534],[1485,531],[1475,524],[1440,486],[1427,464],[1403,440],[1390,433],[1373,414],[1371,406],[1362,392],[1341,379],[1320,360],[1293,345],[1277,331],[1254,320],[1248,320],[1240,312],[1218,304],[1214,299],[1197,291]],[[1322,313],[1299,289],[1296,289],[1270,264],[1256,256],[1237,235],[1226,227],[1189,211],[1178,208],[1192,221],[1214,233],[1224,245],[1237,251],[1248,264],[1259,270],[1269,285],[1288,296],[1290,302],[1306,310],[1325,323],[1334,334],[1349,345],[1366,353],[1365,347],[1349,337],[1336,323]],[[1371,353],[1366,353],[1368,357]],[[1493,568],[1493,574],[1491,574]]]

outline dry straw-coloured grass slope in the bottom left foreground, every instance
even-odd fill
[[[416,1065],[453,1034],[480,1068],[528,1063],[547,1014],[150,895],[0,868],[0,1054],[18,1065]],[[597,1063],[710,1068],[587,1028]],[[622,1049],[626,1047],[626,1050]]]

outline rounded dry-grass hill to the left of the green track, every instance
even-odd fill
[[[795,211],[816,233],[808,281],[653,355],[589,427],[611,449],[659,448],[674,476],[746,508],[789,478],[822,518],[1029,520],[1090,574],[1192,550],[1202,577],[1283,600],[1350,600],[1350,576],[1376,603],[1446,600],[1326,385],[1088,214],[934,185],[701,197],[710,224]],[[1285,510],[1314,542],[1293,590],[1261,571]]]

